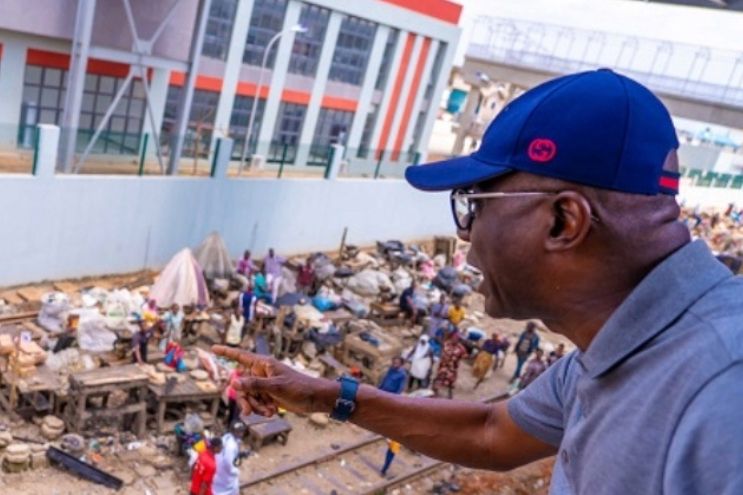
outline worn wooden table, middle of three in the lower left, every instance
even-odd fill
[[[122,422],[127,415],[135,415],[133,431],[137,437],[145,433],[147,420],[147,374],[135,364],[109,366],[70,375],[69,403],[65,409],[68,431],[81,433],[92,418],[118,417]],[[107,407],[111,392],[128,392],[127,401],[119,407]],[[88,408],[88,398],[102,397],[103,407]]]

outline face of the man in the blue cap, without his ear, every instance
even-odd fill
[[[535,191],[526,174],[509,174],[476,192]],[[459,231],[471,243],[467,262],[478,268],[483,281],[478,292],[485,296],[485,311],[493,317],[533,316],[529,305],[534,284],[540,283],[539,261],[543,232],[549,230],[536,210],[543,197],[506,197],[478,200],[477,214],[469,232]]]

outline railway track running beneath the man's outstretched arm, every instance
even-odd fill
[[[499,394],[483,402],[507,397],[508,394]],[[447,464],[402,447],[385,478],[379,471],[386,451],[386,439],[372,435],[336,451],[253,477],[240,485],[240,491],[270,495],[374,495]]]

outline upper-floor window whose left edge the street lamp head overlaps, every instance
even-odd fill
[[[329,18],[328,9],[309,4],[302,6],[299,23],[307,28],[307,32],[295,35],[289,72],[314,77]]]

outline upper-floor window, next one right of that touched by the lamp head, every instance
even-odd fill
[[[328,76],[331,81],[361,85],[376,31],[373,22],[351,16],[343,19]]]

